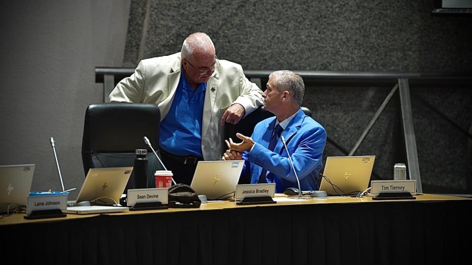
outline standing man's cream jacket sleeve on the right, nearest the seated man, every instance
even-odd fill
[[[263,105],[263,98],[262,98],[262,90],[257,87],[257,85],[251,81],[249,81],[244,72],[242,71],[242,67],[238,67],[238,75],[239,75],[239,97],[233,102],[233,104],[241,104],[244,109],[246,110],[245,116],[254,110],[256,110],[259,106]]]

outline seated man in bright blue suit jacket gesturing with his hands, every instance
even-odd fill
[[[275,117],[258,123],[251,137],[237,133],[236,136],[243,140],[241,143],[234,143],[231,138],[226,141],[229,149],[222,159],[245,160],[241,176],[251,174],[253,184],[275,183],[276,192],[298,187],[282,135],[301,189],[318,189],[326,131],[300,109],[304,92],[305,85],[299,75],[288,70],[272,72],[262,96],[266,110]]]

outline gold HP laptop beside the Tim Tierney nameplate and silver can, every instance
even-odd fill
[[[328,195],[356,195],[369,186],[375,156],[328,157],[320,190]],[[329,181],[328,181],[329,180]]]

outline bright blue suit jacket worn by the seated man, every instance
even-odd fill
[[[251,174],[251,183],[257,183],[264,167],[267,169],[267,183],[275,183],[276,192],[283,192],[287,187],[298,188],[298,185],[282,140],[279,139],[274,152],[267,149],[275,119],[275,117],[265,119],[254,128],[251,137],[256,144],[250,153],[245,151],[242,154],[245,163],[241,176]],[[318,172],[323,166],[323,150],[326,143],[326,131],[323,126],[299,109],[282,135],[300,179],[301,189],[318,189]]]

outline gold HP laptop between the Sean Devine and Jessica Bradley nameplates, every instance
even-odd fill
[[[199,161],[190,187],[208,200],[225,200],[235,196],[244,160]]]

